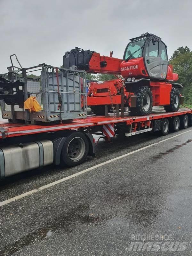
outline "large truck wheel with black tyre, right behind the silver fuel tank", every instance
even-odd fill
[[[89,142],[81,132],[74,132],[65,141],[61,150],[61,165],[82,164],[89,152]]]

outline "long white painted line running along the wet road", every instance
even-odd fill
[[[79,176],[79,175],[81,175],[81,174],[83,174],[83,173],[85,173],[85,172],[89,172],[89,171],[94,170],[94,169],[96,169],[96,168],[98,168],[98,167],[100,167],[100,166],[103,166],[103,165],[105,165],[105,164],[109,164],[109,163],[114,162],[114,161],[116,161],[116,160],[118,160],[118,159],[121,159],[121,158],[123,158],[123,157],[125,157],[125,156],[132,155],[132,154],[134,154],[134,153],[136,153],[136,152],[139,152],[139,151],[141,151],[141,150],[143,150],[143,149],[150,148],[150,147],[152,147],[152,146],[154,146],[154,145],[158,145],[158,144],[161,143],[161,142],[164,142],[164,141],[166,141],[166,140],[171,140],[171,139],[173,139],[173,138],[175,138],[175,137],[178,137],[178,136],[180,136],[180,135],[182,135],[182,134],[184,134],[184,133],[191,132],[191,131],[192,131],[192,129],[189,130],[189,131],[186,131],[186,132],[181,132],[180,134],[174,135],[174,136],[172,136],[172,137],[170,137],[170,138],[167,138],[167,139],[165,139],[165,140],[161,140],[161,141],[159,141],[159,142],[150,144],[150,145],[148,145],[148,146],[146,146],[146,147],[139,148],[139,149],[137,149],[137,150],[134,150],[134,151],[129,152],[129,153],[127,153],[127,154],[124,154],[124,155],[122,155],[122,156],[117,156],[117,157],[115,157],[115,158],[113,158],[113,159],[111,159],[111,160],[105,161],[105,162],[103,162],[103,163],[101,163],[101,164],[94,165],[94,166],[92,166],[92,167],[90,167],[90,168],[88,168],[88,169],[85,169],[85,170],[83,170],[83,171],[81,171],[81,172],[77,172],[77,173],[72,174],[72,175],[70,175],[70,176],[68,176],[68,177],[65,177],[65,178],[63,178],[63,179],[56,180],[56,181],[54,181],[54,182],[52,182],[52,183],[49,183],[49,184],[44,185],[44,186],[42,186],[42,187],[39,187],[39,188],[37,188],[37,189],[33,189],[33,190],[30,190],[30,191],[28,191],[28,192],[26,192],[26,193],[23,193],[23,194],[21,194],[21,195],[14,196],[14,197],[12,197],[12,198],[9,198],[9,199],[7,199],[7,200],[5,200],[5,201],[0,202],[0,206],[3,206],[3,205],[5,205],[5,204],[9,204],[9,203],[11,203],[11,202],[13,202],[13,201],[19,200],[19,199],[21,199],[21,198],[23,198],[23,197],[25,197],[25,196],[34,194],[34,193],[36,193],[36,192],[38,192],[38,191],[41,191],[41,190],[44,190],[44,189],[46,189],[46,188],[50,188],[50,187],[52,187],[52,186],[54,186],[54,185],[57,185],[57,184],[59,184],[59,183],[61,183],[61,182],[63,182],[63,181],[70,180],[70,179],[72,179],[72,178],[74,178],[74,177],[76,177],[76,176]]]

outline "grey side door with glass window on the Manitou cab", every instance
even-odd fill
[[[151,78],[161,78],[161,42],[150,39],[145,52],[145,66]]]

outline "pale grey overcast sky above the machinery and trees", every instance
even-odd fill
[[[76,46],[122,58],[129,39],[149,32],[192,49],[191,0],[0,0],[0,73],[17,54],[25,68],[62,65]]]

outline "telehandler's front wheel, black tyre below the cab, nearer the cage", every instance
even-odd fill
[[[139,87],[136,92],[137,105],[136,108],[130,108],[131,114],[136,116],[148,115],[153,107],[153,97],[148,86]]]

